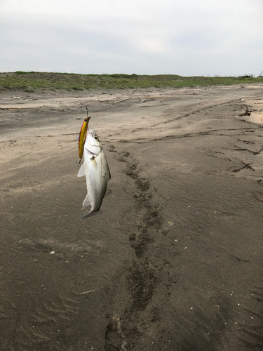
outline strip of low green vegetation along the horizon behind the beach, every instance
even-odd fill
[[[28,92],[65,89],[109,90],[126,88],[180,88],[182,86],[233,85],[263,82],[263,78],[245,75],[243,77],[182,77],[175,74],[154,76],[137,74],[68,74],[22,72],[0,73],[0,90],[22,89]]]

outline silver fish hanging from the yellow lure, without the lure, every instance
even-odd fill
[[[92,128],[88,128],[83,154],[84,162],[78,177],[86,176],[88,194],[83,201],[83,207],[91,205],[91,208],[81,219],[102,213],[100,206],[104,197],[112,194],[108,187],[111,178],[109,166],[100,140]]]

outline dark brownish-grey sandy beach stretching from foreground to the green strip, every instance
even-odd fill
[[[1,93],[0,350],[262,350],[262,97]],[[79,220],[86,102],[113,194]]]

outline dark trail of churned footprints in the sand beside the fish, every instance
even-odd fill
[[[114,150],[113,145],[111,150]],[[130,350],[130,343],[137,337],[136,322],[133,324],[131,321],[139,319],[140,312],[147,307],[158,284],[153,266],[147,257],[147,245],[154,242],[156,231],[161,230],[162,226],[159,204],[154,198],[156,195],[149,180],[140,177],[137,162],[132,159],[129,152],[118,153],[116,157],[118,161],[127,163],[126,176],[131,180],[128,192],[135,200],[133,208],[125,216],[128,223],[137,223],[130,228],[129,232],[130,246],[135,251],[136,258],[128,269],[130,274],[127,278],[132,300],[121,318],[114,314],[109,322],[105,333],[104,350],[106,351]],[[128,220],[129,216],[131,220]],[[123,334],[123,329],[126,331],[126,336]]]

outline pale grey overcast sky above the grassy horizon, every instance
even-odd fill
[[[263,70],[262,0],[0,0],[0,72]]]

